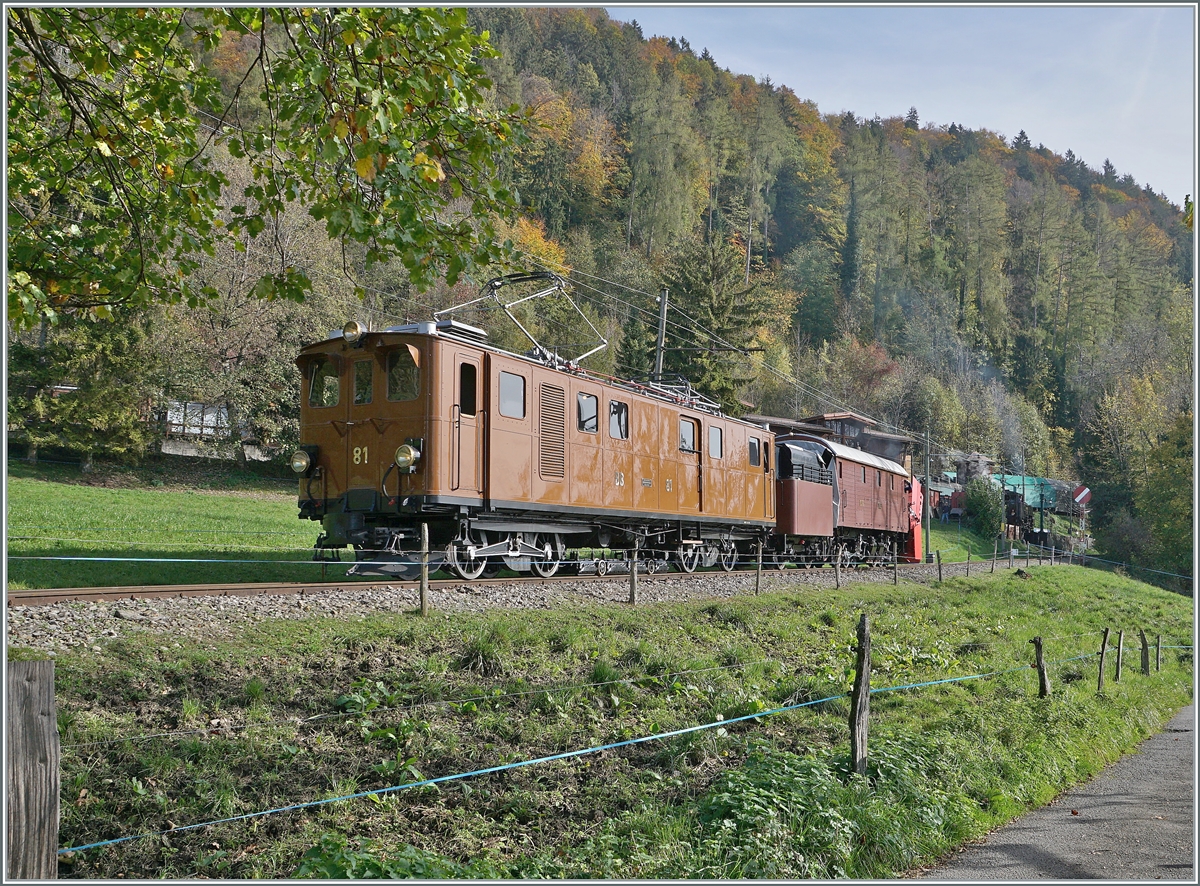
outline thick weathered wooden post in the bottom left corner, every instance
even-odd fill
[[[59,874],[59,724],[54,661],[10,661],[7,879]]]

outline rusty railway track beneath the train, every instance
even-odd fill
[[[929,568],[929,564],[923,563],[901,563],[900,569],[907,570],[911,568]],[[864,569],[888,569],[890,565],[884,567],[847,567],[847,573],[853,573],[854,570]],[[748,574],[752,573],[754,569],[738,569],[736,573]],[[804,574],[809,570],[799,569],[797,567],[790,567],[785,569],[773,568],[763,565],[762,571],[764,575],[778,575],[782,573],[797,573]],[[724,575],[727,573],[721,573],[719,570],[696,570],[695,573],[682,573],[682,571],[658,571],[648,573],[638,569],[637,579],[638,581],[662,581],[662,580],[701,580],[713,575]],[[431,579],[431,588],[440,587],[461,587],[463,585],[554,585],[559,582],[590,582],[590,581],[620,581],[628,579],[629,573],[623,571],[611,571],[607,575],[594,575],[594,574],[559,574],[551,579],[542,577],[530,577],[530,576],[510,576],[510,577],[496,577],[496,579],[476,579],[473,582],[463,581],[462,579]],[[348,591],[355,588],[370,588],[378,586],[388,586],[394,588],[415,588],[419,582],[413,580],[386,580],[380,579],[378,581],[371,580],[355,580],[355,581],[325,581],[325,582],[259,582],[259,583],[240,583],[240,585],[127,585],[120,587],[52,587],[52,588],[28,588],[19,591],[8,591],[8,605],[10,606],[53,606],[60,603],[71,601],[84,601],[84,603],[101,603],[101,601],[115,601],[115,600],[142,600],[142,599],[155,599],[155,598],[172,598],[172,597],[262,597],[262,595],[284,595],[284,594],[323,594],[337,591]]]

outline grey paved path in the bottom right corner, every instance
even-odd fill
[[[922,879],[1195,882],[1194,730],[1189,705],[1135,753]]]

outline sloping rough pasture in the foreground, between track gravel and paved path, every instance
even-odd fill
[[[868,778],[847,772],[841,698],[860,612],[876,688],[994,675],[876,694]],[[1189,648],[1150,676],[1127,648],[1123,680],[1097,695],[1104,627],[1183,646],[1192,601],[1034,565],[112,640],[58,659],[61,845],[713,726],[85,850],[60,875],[893,876],[1087,779],[1190,700]],[[1032,636],[1052,663],[1044,700]],[[804,701],[820,704],[736,719]]]

